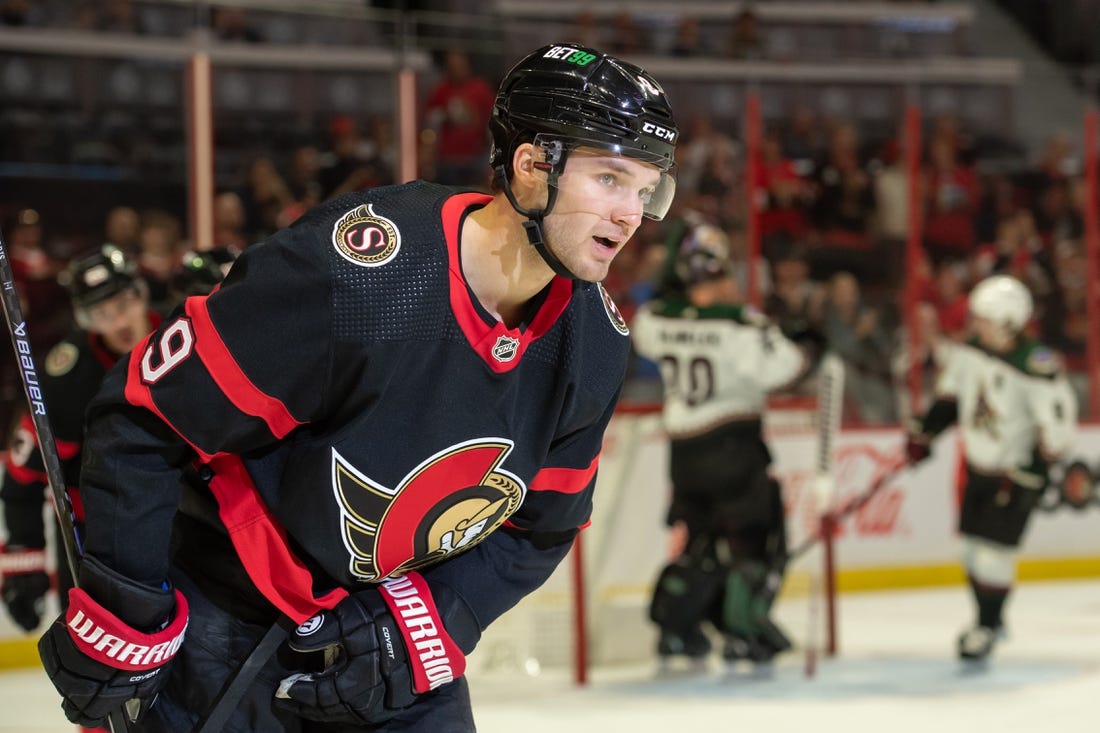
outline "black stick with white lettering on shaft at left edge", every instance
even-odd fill
[[[23,393],[26,396],[26,404],[31,411],[31,420],[34,423],[34,431],[37,434],[38,451],[42,453],[42,462],[46,468],[46,485],[50,486],[50,495],[53,500],[54,514],[62,530],[61,541],[65,548],[65,559],[68,561],[69,572],[73,573],[74,584],[77,582],[77,560],[84,555],[80,547],[80,536],[76,529],[76,513],[73,511],[73,501],[68,492],[65,491],[65,474],[62,472],[62,461],[57,455],[57,444],[54,440],[54,431],[50,427],[50,419],[46,416],[46,402],[38,385],[38,372],[34,366],[34,357],[31,353],[31,341],[26,332],[26,319],[23,318],[23,306],[19,302],[19,292],[15,289],[15,273],[12,272],[11,261],[8,259],[8,249],[4,247],[3,237],[0,236],[0,298],[3,302],[3,315],[8,322],[8,335],[11,337],[11,346],[19,363],[19,378],[23,383]],[[141,709],[140,701],[134,700],[125,703],[127,713],[131,721],[136,720],[138,711]],[[129,729],[127,720],[121,710],[112,712],[108,723],[114,733],[121,733]]]

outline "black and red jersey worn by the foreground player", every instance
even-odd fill
[[[198,456],[252,581],[298,622],[419,569],[484,627],[541,583],[564,550],[525,540],[588,521],[627,329],[602,286],[560,277],[519,328],[492,318],[459,256],[488,200],[356,192],[189,298],[89,412],[87,551],[161,582]]]

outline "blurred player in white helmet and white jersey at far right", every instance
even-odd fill
[[[1020,281],[981,281],[969,308],[975,336],[946,354],[936,400],[913,425],[908,453],[911,463],[924,460],[933,438],[958,425],[966,456],[963,567],[977,606],[958,655],[983,660],[1003,632],[1016,551],[1046,488],[1047,466],[1071,447],[1077,402],[1059,360],[1023,333],[1032,297]]]

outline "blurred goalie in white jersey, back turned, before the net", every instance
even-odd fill
[[[725,637],[728,663],[767,669],[790,643],[769,617],[782,582],[785,518],[769,474],[761,413],[769,392],[795,382],[803,350],[754,308],[737,304],[726,234],[691,230],[675,254],[681,294],[653,300],[631,326],[638,352],[658,363],[671,441],[668,524],[683,553],[660,573],[650,616],[662,667],[710,653],[704,624]]]

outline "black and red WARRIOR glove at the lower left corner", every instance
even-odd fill
[[[42,636],[38,655],[65,716],[98,727],[130,700],[153,704],[186,628],[183,593],[140,586],[86,556],[80,588],[69,591],[68,611]]]

